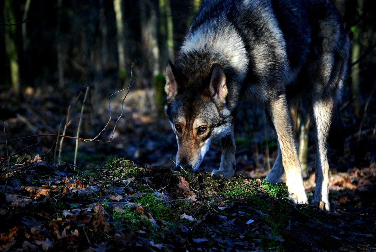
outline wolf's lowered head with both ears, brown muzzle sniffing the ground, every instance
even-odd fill
[[[226,107],[226,76],[218,64],[212,65],[208,76],[184,76],[169,61],[165,91],[165,113],[178,145],[176,165],[196,171],[211,140],[224,136],[232,127]]]

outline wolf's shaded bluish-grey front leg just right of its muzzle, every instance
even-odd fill
[[[233,127],[229,133],[227,133],[222,138],[222,154],[221,154],[221,165],[219,166],[219,170],[213,170],[212,174],[221,176],[225,178],[232,178],[235,174],[235,167],[236,167],[236,160],[235,160],[235,139],[234,139],[234,131]]]

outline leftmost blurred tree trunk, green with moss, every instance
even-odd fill
[[[12,1],[4,1],[4,20],[15,18]],[[16,46],[17,26],[4,26],[6,60],[9,62],[12,88],[15,95],[21,97],[20,65]]]

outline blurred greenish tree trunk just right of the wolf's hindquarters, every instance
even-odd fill
[[[358,16],[361,17],[363,9],[363,0],[358,0]],[[351,62],[356,62],[361,56],[361,37],[362,28],[361,24],[351,27],[353,33],[353,48],[351,55]],[[353,95],[354,115],[360,118],[360,79],[359,79],[359,64],[355,64],[351,68],[351,89]]]

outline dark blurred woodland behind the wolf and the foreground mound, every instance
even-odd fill
[[[372,0],[334,3],[352,48],[340,104],[346,139],[343,157],[367,166],[374,162],[376,146],[376,10]],[[164,67],[177,55],[199,6],[200,0],[1,1],[0,124],[6,134],[2,130],[0,142],[61,134],[64,125],[65,135],[76,136],[80,127],[80,137],[93,138],[110,116],[108,96],[132,83],[114,143],[80,141],[77,164],[114,155],[139,165],[173,165],[177,146],[163,114]],[[111,138],[126,92],[111,98],[112,119],[98,139]],[[238,169],[253,175],[256,168],[270,167],[276,140],[259,104],[248,102],[241,107],[236,130]],[[308,154],[307,162],[311,167],[315,148],[306,120],[296,113],[294,127],[297,138],[303,141],[309,136],[306,144],[313,154]],[[56,161],[60,141],[54,136],[13,141],[0,145],[0,156],[47,153]],[[61,145],[64,162],[73,162],[74,144],[75,140],[65,139]],[[203,167],[216,168],[219,153],[219,143],[214,143]],[[352,164],[342,162],[338,167],[346,170]]]

